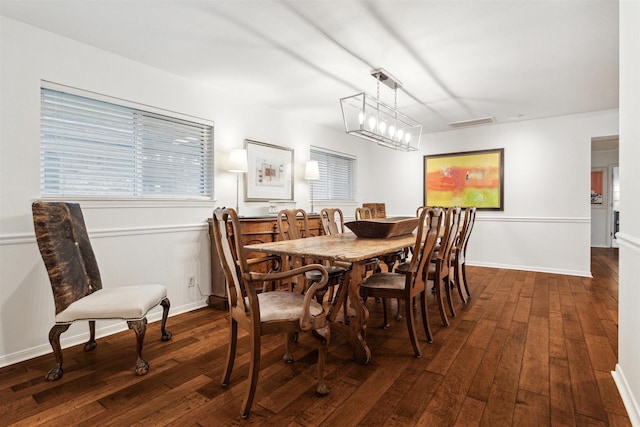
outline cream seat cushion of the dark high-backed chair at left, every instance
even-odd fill
[[[139,320],[167,296],[163,285],[102,288],[72,303],[56,315],[56,323],[76,320]]]

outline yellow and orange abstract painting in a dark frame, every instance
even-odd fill
[[[424,205],[504,210],[504,148],[424,156]]]

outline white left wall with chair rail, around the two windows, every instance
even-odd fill
[[[165,284],[172,314],[205,305],[210,293],[206,221],[215,206],[235,206],[235,174],[226,171],[231,148],[242,147],[245,138],[293,148],[295,199],[305,209],[309,197],[303,165],[309,145],[324,145],[368,163],[368,145],[354,143],[343,132],[298,124],[250,101],[0,19],[0,366],[51,352],[47,335],[54,306],[31,219],[31,203],[40,195],[41,80],[215,122],[215,201],[81,203],[104,286]],[[360,171],[360,182],[365,182],[364,173]],[[244,203],[242,197],[244,215],[266,213],[266,203]],[[347,212],[354,208],[354,203],[344,205]],[[201,293],[187,288],[188,275],[196,275]],[[159,317],[156,309],[150,320]],[[98,335],[125,328],[123,323],[97,326]],[[86,330],[86,324],[73,325],[62,336],[63,346],[86,339]]]

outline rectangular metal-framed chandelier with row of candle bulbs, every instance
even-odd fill
[[[398,88],[402,83],[382,68],[371,71],[371,76],[377,81],[375,98],[362,92],[340,99],[345,130],[385,147],[416,151],[420,147],[422,125],[398,111]],[[393,107],[380,101],[380,83],[393,89]]]

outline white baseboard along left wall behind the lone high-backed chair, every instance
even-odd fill
[[[171,309],[169,310],[169,317],[171,318],[178,314],[186,313],[186,312],[193,311],[198,308],[202,308],[206,306],[207,306],[207,301],[202,300],[202,301],[196,301],[190,304],[185,304],[180,307],[171,307]],[[162,319],[162,311],[153,312],[147,316],[148,323],[157,322],[157,321],[160,321],[161,319]],[[168,323],[167,329],[170,331],[171,322],[167,322],[167,323]],[[117,322],[115,324],[112,324],[110,326],[105,326],[102,328],[99,328],[98,326],[99,324],[96,324],[96,338],[103,338],[103,337],[127,330],[126,322]],[[63,349],[68,347],[73,347],[74,345],[84,344],[85,342],[87,342],[88,339],[89,339],[89,332],[87,330],[87,332],[83,332],[80,334],[76,334],[68,337],[64,337],[64,336],[61,337],[60,346]],[[28,348],[26,350],[18,351],[16,353],[7,354],[6,356],[0,357],[0,368],[13,365],[14,363],[24,362],[25,360],[33,359],[35,357],[42,356],[49,353],[53,353],[53,350],[51,349],[51,345],[47,343],[47,344],[42,344],[36,347]]]

